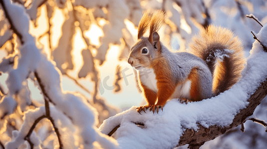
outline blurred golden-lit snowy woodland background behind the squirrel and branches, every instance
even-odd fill
[[[137,27],[145,10],[163,9],[165,24],[159,31],[161,41],[172,51],[186,51],[192,36],[209,24],[230,28],[250,55],[253,35],[261,25],[246,17],[254,14],[267,23],[267,0],[12,0],[23,5],[30,17],[30,34],[47,58],[62,73],[64,90],[79,92],[104,119],[145,104],[136,81],[136,72],[128,65],[130,47],[137,41]],[[16,54],[19,43],[9,30],[0,8],[0,60]],[[8,93],[0,75],[0,97]],[[27,79],[29,98],[42,102],[35,82]],[[267,120],[267,101],[255,115]],[[99,126],[98,125],[98,126]],[[14,126],[18,127],[18,126]],[[201,149],[266,149],[265,128],[245,123],[245,133],[236,128]],[[180,147],[179,149],[187,147]]]

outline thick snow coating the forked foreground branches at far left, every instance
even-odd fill
[[[25,94],[28,94],[27,90],[24,90],[26,88],[23,84],[27,84],[26,78],[31,72],[36,72],[49,100],[52,102],[49,106],[51,109],[50,116],[55,121],[59,132],[70,136],[74,134],[74,143],[73,140],[70,140],[73,138],[62,135],[64,140],[63,146],[66,149],[77,149],[77,145],[83,146],[85,149],[92,149],[96,146],[105,148],[107,147],[106,145],[109,146],[109,149],[117,149],[117,141],[101,134],[96,128],[98,124],[96,109],[87,103],[87,100],[80,94],[63,91],[61,85],[62,74],[55,67],[55,62],[48,60],[47,55],[36,47],[34,37],[29,34],[29,17],[25,13],[25,9],[16,3],[11,3],[10,0],[4,0],[4,3],[7,10],[12,10],[12,13],[10,13],[11,20],[14,21],[15,28],[22,35],[24,43],[19,48],[17,68],[6,68],[4,65],[0,67],[2,72],[9,71],[6,84],[9,90],[8,94],[10,95],[3,97],[1,100],[1,114],[3,112],[13,112],[16,102],[11,96],[21,93],[20,96],[23,98]],[[13,57],[4,59],[2,62],[6,64]],[[23,105],[21,106],[23,108]],[[27,135],[30,127],[38,117],[44,114],[44,107],[25,112],[21,128],[19,131],[13,131],[14,138],[5,145],[6,149],[17,149],[24,144],[24,137]],[[32,142],[34,147],[36,146],[36,149],[38,149],[39,142],[36,135],[35,137],[33,135]],[[28,145],[26,146],[29,148]]]

